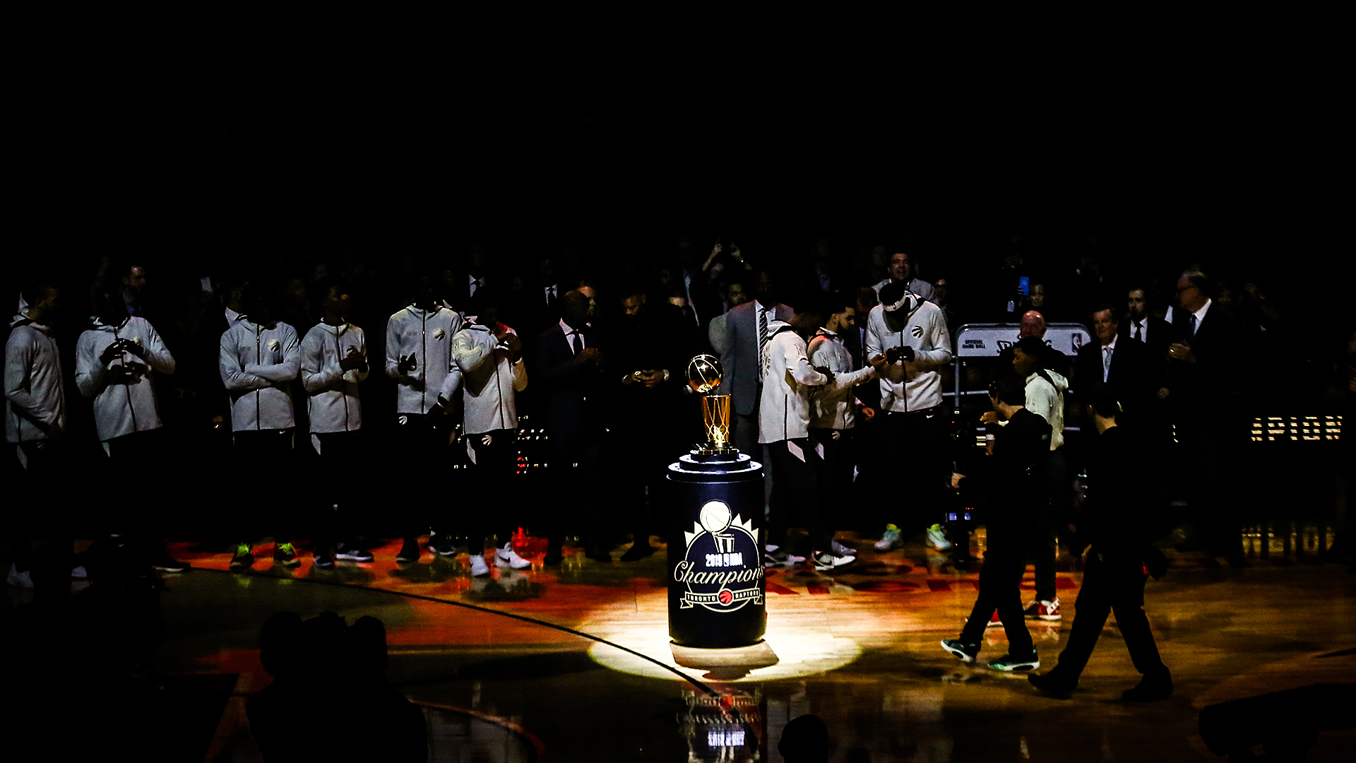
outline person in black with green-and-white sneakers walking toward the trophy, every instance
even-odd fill
[[[1026,391],[1012,382],[995,382],[989,388],[995,426],[993,456],[984,485],[989,487],[989,547],[979,570],[979,596],[965,627],[942,649],[963,663],[974,663],[984,629],[994,612],[1008,634],[1008,654],[993,660],[995,671],[1035,671],[1040,667],[1036,648],[1022,616],[1021,577],[1026,572],[1026,546],[1032,525],[1045,502],[1050,475],[1050,422],[1025,407]],[[991,417],[984,414],[984,421]],[[967,468],[967,471],[970,471]],[[960,487],[964,474],[952,474],[952,487]]]

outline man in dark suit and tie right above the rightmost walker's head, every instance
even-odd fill
[[[1106,384],[1125,410],[1127,421],[1135,421],[1149,406],[1157,391],[1153,387],[1149,348],[1123,337],[1116,329],[1115,311],[1102,304],[1093,311],[1093,334],[1097,343],[1078,349],[1074,360],[1074,391],[1090,394],[1097,384]],[[1138,432],[1135,433],[1138,434]]]

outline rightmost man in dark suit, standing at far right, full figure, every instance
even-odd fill
[[[1210,280],[1188,270],[1177,280],[1173,341],[1168,345],[1168,390],[1177,425],[1178,455],[1192,475],[1189,501],[1195,527],[1178,548],[1238,557],[1241,517],[1231,453],[1242,443],[1242,350],[1246,327],[1210,297]]]

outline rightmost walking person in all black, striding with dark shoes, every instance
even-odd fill
[[[1116,612],[1116,625],[1135,669],[1143,675],[1139,686],[1127,690],[1127,702],[1165,699],[1173,692],[1173,679],[1158,656],[1158,645],[1144,616],[1146,570],[1162,574],[1162,554],[1149,544],[1149,521],[1143,506],[1147,497],[1134,470],[1130,436],[1116,425],[1120,405],[1106,384],[1096,384],[1088,395],[1089,413],[1097,428],[1097,444],[1088,464],[1089,498],[1078,521],[1074,548],[1090,543],[1083,587],[1078,592],[1073,631],[1059,654],[1059,665],[1045,675],[1029,676],[1048,694],[1067,695],[1097,645],[1106,615]]]

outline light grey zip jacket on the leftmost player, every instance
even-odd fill
[[[16,315],[4,343],[4,434],[9,443],[60,436],[66,428],[61,353],[52,329]]]

